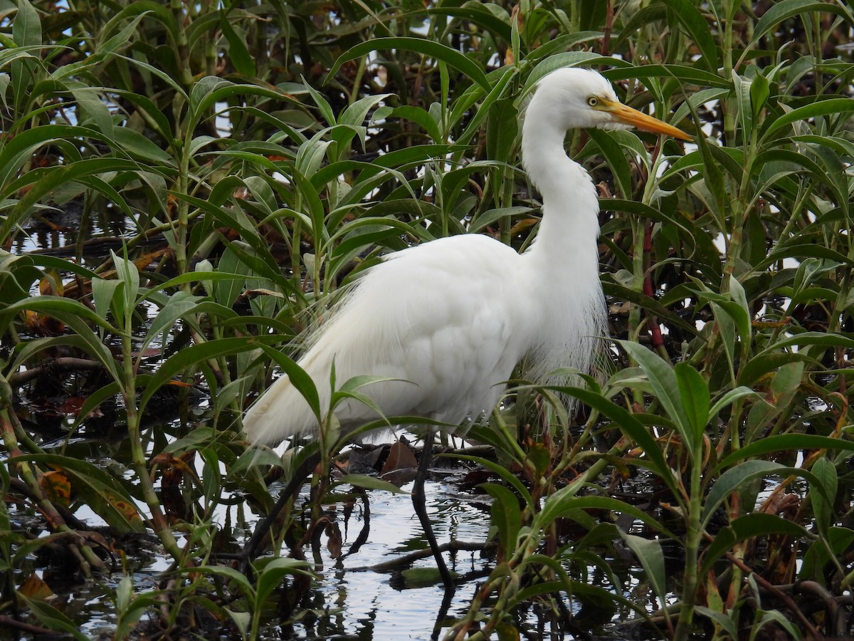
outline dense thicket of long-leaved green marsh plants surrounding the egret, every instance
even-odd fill
[[[394,488],[330,478],[331,408],[284,459],[244,409],[282,372],[316,401],[301,337],[380,256],[528,246],[524,96],[582,65],[696,138],[567,139],[600,189],[609,362],[513,381],[467,432],[489,572],[441,632],[516,638],[536,605],[583,634],[594,604],[647,638],[851,634],[852,34],[805,0],[0,0],[4,625],[85,638],[45,567],[113,578],[115,638],[299,620],[307,550],[340,547],[323,506]],[[241,557],[313,451],[312,498]]]

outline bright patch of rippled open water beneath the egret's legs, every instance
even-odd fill
[[[448,497],[453,491],[441,482],[425,485],[427,509],[439,543],[451,538],[480,542],[486,538],[488,515],[480,509]],[[406,486],[404,489],[411,489]],[[418,516],[408,494],[369,491],[371,533],[359,552],[334,560],[323,550],[324,567],[318,570],[319,585],[301,607],[309,612],[290,628],[290,637],[299,639],[430,639],[436,615],[442,609],[445,591],[441,583],[430,587],[401,588],[394,573],[371,569],[377,563],[412,550],[427,549]],[[340,515],[339,515],[340,518]],[[351,516],[345,536],[348,549],[360,532],[361,515]],[[414,567],[434,567],[432,556]],[[458,552],[449,562],[460,574],[486,572],[487,562],[477,552]],[[459,586],[448,611],[449,620],[465,614],[471,603],[474,584]],[[265,638],[282,638],[280,626],[268,627]],[[267,636],[269,635],[269,636]]]

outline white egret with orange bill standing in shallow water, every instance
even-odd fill
[[[605,332],[599,202],[587,171],[566,156],[564,138],[571,128],[614,126],[690,139],[620,103],[594,71],[561,68],[541,79],[522,130],[522,163],[543,203],[534,243],[518,254],[494,238],[459,235],[395,252],[368,270],[313,332],[299,361],[318,387],[321,407],[330,400],[333,361],[339,382],[360,374],[396,379],[362,390],[384,415],[456,425],[488,415],[501,382],[523,358],[532,366],[529,379],[542,381],[562,367],[587,371]],[[354,400],[335,414],[344,433],[377,418]],[[256,444],[318,429],[287,376],[254,403],[243,427]],[[422,462],[431,444],[430,433]],[[418,500],[421,516],[417,487]],[[422,523],[430,529],[425,515]],[[430,543],[442,569],[435,539]],[[448,585],[447,569],[442,576]]]

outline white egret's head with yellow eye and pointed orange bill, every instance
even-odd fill
[[[537,84],[531,107],[564,129],[633,126],[645,132],[664,133],[690,140],[686,132],[620,103],[614,88],[591,69],[560,68]]]

